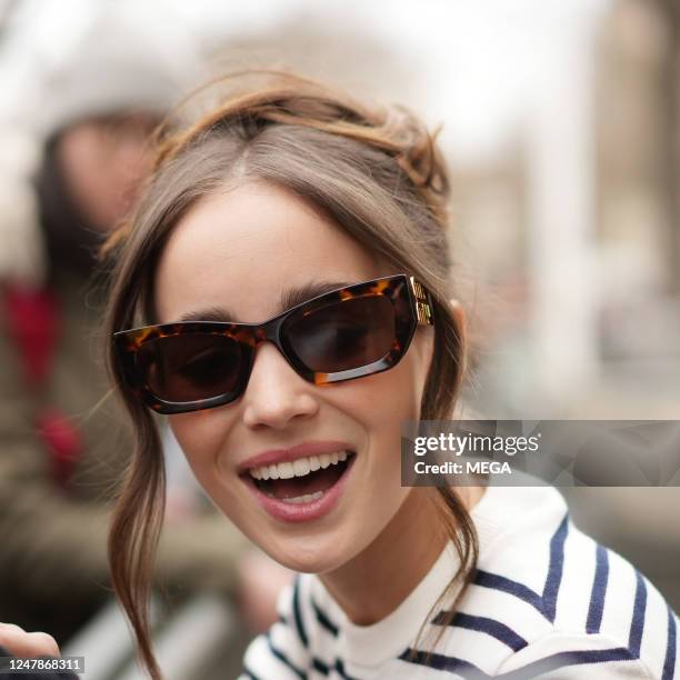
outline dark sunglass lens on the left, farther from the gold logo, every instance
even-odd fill
[[[137,368],[158,398],[189,402],[237,389],[242,349],[233,339],[211,334],[168,336],[144,342]]]

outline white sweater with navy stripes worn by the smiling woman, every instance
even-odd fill
[[[371,626],[353,624],[318,577],[301,574],[281,593],[279,621],[248,648],[239,680],[680,680],[677,614],[634,567],[573,526],[556,489],[489,487],[471,514],[478,571],[446,629],[430,608],[458,566],[451,543]]]

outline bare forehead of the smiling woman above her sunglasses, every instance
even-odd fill
[[[373,253],[307,201],[249,183],[182,217],[156,273],[156,308],[161,323],[207,307],[258,322],[281,311],[288,290],[384,273]]]

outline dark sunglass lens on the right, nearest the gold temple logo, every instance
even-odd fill
[[[386,296],[333,302],[294,318],[288,343],[310,370],[334,373],[382,359],[394,342],[394,308]]]

